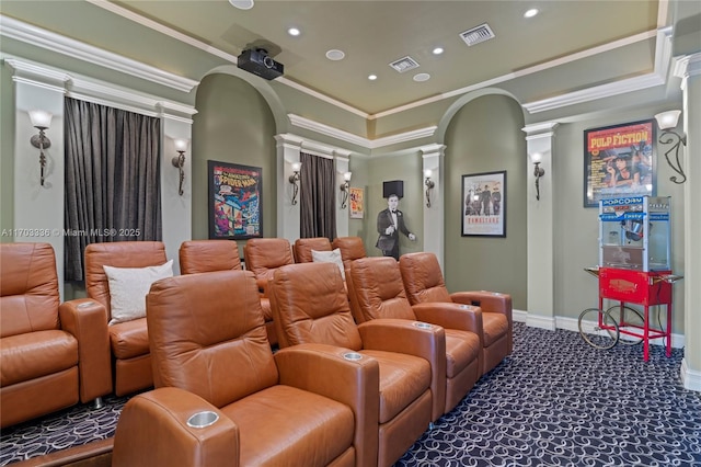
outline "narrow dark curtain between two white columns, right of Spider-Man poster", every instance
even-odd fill
[[[300,152],[300,237],[336,238],[336,191],[333,159]]]

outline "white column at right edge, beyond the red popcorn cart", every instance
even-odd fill
[[[685,388],[701,391],[701,53],[677,60],[675,76],[681,78],[683,130],[687,147],[683,184],[683,331],[685,353],[681,380]],[[675,312],[679,312],[678,308]]]

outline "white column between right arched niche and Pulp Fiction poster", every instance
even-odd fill
[[[526,147],[528,168],[526,178],[528,206],[528,317],[526,323],[538,328],[555,329],[554,289],[554,200],[553,200],[553,143],[558,123],[528,125]],[[540,161],[543,176],[536,186],[535,163]],[[538,200],[537,196],[540,198]]]

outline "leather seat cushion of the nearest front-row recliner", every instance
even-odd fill
[[[239,426],[242,466],[330,465],[353,445],[348,407],[290,386],[268,387],[221,411]]]

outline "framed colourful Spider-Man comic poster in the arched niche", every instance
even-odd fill
[[[263,237],[263,179],[260,167],[207,161],[209,238]]]

